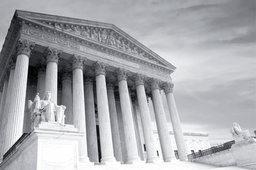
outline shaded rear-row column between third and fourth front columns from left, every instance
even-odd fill
[[[85,120],[88,157],[94,164],[99,164],[97,145],[96,119],[93,95],[94,77],[84,76],[83,88],[85,90]]]

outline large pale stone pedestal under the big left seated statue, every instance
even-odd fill
[[[78,140],[84,135],[74,125],[41,122],[0,164],[1,170],[77,170]]]

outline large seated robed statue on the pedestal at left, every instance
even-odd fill
[[[46,91],[43,100],[40,100],[38,95],[39,93],[36,94],[30,111],[31,128],[36,127],[40,122],[58,122],[59,124],[64,125],[64,110],[66,107],[63,105],[58,106],[52,102],[52,93],[50,91]]]

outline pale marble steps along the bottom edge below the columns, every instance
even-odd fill
[[[248,168],[216,167],[195,162],[162,162],[155,164],[94,165],[79,170],[250,170]]]

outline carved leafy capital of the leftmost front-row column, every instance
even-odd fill
[[[35,42],[19,39],[16,44],[17,55],[26,54],[28,57],[30,57],[30,54],[32,54],[33,52],[32,50],[34,46],[35,46]]]

